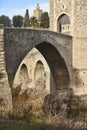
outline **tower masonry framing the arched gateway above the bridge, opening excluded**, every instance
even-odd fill
[[[74,24],[74,0],[50,0],[50,29],[57,31],[58,18],[66,14],[70,18],[71,31],[73,35]]]

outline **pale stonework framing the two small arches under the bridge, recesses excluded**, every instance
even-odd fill
[[[20,84],[21,84],[21,82],[19,81],[20,76],[21,76],[20,73],[23,73],[22,68],[25,65],[27,72],[28,72],[27,73],[28,76],[26,76],[26,77],[29,77],[29,79],[27,80],[27,81],[29,81],[29,82],[27,82],[28,88],[34,88],[35,87],[34,73],[35,73],[36,64],[39,61],[41,61],[43,63],[44,70],[46,73],[46,77],[44,76],[44,78],[46,78],[46,84],[45,84],[46,89],[45,90],[46,90],[46,92],[50,93],[50,69],[49,69],[49,66],[48,66],[45,58],[42,56],[42,54],[36,48],[33,48],[22,60],[21,64],[19,65],[19,67],[16,71],[12,87],[16,88],[16,87],[20,86]]]

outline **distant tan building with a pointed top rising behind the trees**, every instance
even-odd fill
[[[33,11],[33,15],[34,17],[36,17],[38,23],[41,22],[41,14],[42,14],[42,10],[40,9],[39,4],[37,4],[36,9],[34,9]]]

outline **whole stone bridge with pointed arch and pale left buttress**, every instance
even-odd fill
[[[46,59],[56,91],[69,92],[79,77],[73,68],[73,39],[71,36],[34,29],[0,29],[0,99],[11,104],[11,89],[17,69],[25,56],[37,48]],[[79,78],[78,78],[79,79]],[[79,83],[80,84],[80,83]],[[10,86],[10,87],[9,87]],[[9,105],[8,105],[9,109]]]

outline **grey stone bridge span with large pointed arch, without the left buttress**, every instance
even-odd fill
[[[52,86],[55,89],[68,89],[72,80],[72,37],[32,29],[5,29],[6,69],[10,86],[21,61],[34,47],[40,51],[50,67],[54,80]]]

